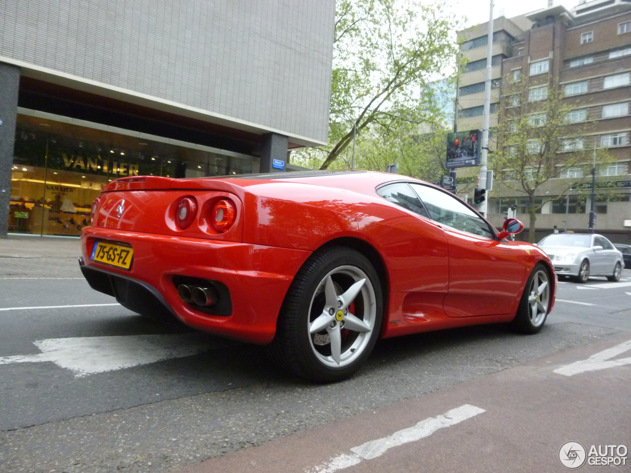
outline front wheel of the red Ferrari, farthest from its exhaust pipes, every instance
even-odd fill
[[[550,271],[543,263],[537,263],[524,287],[519,307],[511,325],[522,334],[536,334],[545,324],[550,311]]]

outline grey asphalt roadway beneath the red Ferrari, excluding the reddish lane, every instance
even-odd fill
[[[350,380],[311,385],[259,347],[107,305],[74,274],[11,271],[0,308],[91,306],[0,310],[2,472],[169,471],[631,332],[625,270],[615,286],[562,281],[536,336],[468,327],[389,339]]]

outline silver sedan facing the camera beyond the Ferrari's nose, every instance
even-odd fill
[[[559,276],[587,283],[589,276],[606,276],[620,281],[624,267],[622,253],[602,235],[553,233],[538,243],[553,262]]]

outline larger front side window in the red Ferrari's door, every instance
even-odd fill
[[[427,185],[410,185],[416,191],[418,197],[421,198],[425,207],[427,207],[432,220],[449,225],[456,228],[456,230],[466,231],[481,237],[493,238],[493,233],[488,228],[487,222],[464,205],[463,202],[458,201],[456,197]]]

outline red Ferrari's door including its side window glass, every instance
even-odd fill
[[[514,310],[526,279],[524,250],[500,242],[487,221],[451,194],[411,184],[449,244],[449,289],[444,310],[450,317],[498,315]]]

